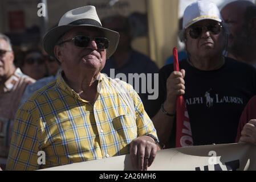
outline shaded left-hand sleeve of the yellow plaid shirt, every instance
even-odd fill
[[[7,159],[7,170],[39,169],[37,139],[38,127],[29,110],[18,110]]]

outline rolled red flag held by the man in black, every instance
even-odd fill
[[[180,71],[176,47],[173,48],[173,67],[174,71]],[[176,100],[176,125],[176,147],[193,146],[189,115],[183,96],[178,96]]]

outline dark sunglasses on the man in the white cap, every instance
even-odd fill
[[[209,23],[207,26],[193,26],[189,28],[189,35],[192,39],[197,39],[201,36],[203,28],[206,28],[207,31],[212,32],[212,34],[220,34],[222,24],[221,23]]]

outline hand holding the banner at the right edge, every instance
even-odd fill
[[[243,126],[239,142],[247,142],[256,145],[256,119],[251,119]]]

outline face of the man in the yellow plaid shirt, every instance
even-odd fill
[[[104,36],[101,31],[94,27],[76,27],[68,31],[62,40],[72,39],[78,35],[85,35],[90,38]],[[99,49],[95,40],[91,40],[87,47],[77,47],[74,45],[74,41],[66,42],[61,49],[61,54],[57,57],[62,63],[64,72],[74,72],[72,74],[84,73],[89,70],[100,72],[105,65],[106,50]]]

